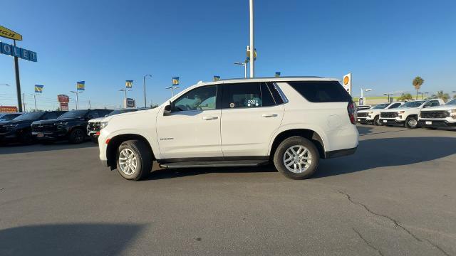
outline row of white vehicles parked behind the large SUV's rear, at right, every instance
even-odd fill
[[[446,104],[440,99],[380,104],[369,110],[358,111],[357,119],[361,124],[403,126],[410,129],[456,129],[456,99]]]

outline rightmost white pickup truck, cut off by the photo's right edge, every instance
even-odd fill
[[[420,127],[456,129],[456,99],[438,107],[428,107],[420,112]]]

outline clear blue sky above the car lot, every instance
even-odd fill
[[[38,53],[20,61],[21,85],[31,106],[33,85],[45,85],[38,108],[86,80],[81,107],[118,107],[125,80],[142,106],[164,102],[165,87],[199,80],[239,78],[249,43],[248,0],[229,1],[9,1],[0,25],[24,36],[19,46]],[[299,1],[255,3],[257,76],[353,73],[353,95],[456,90],[456,1]],[[10,42],[4,39],[4,42]],[[0,55],[0,105],[16,102],[13,60]],[[73,95],[70,95],[73,97]],[[71,103],[70,107],[74,107]],[[28,107],[27,107],[28,108]]]

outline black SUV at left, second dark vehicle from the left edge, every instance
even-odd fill
[[[68,140],[71,143],[84,142],[88,120],[104,117],[113,110],[72,110],[57,119],[33,122],[32,134],[38,141],[49,143]]]

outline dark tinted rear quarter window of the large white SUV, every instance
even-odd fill
[[[352,102],[351,96],[337,81],[288,82],[309,102]]]

